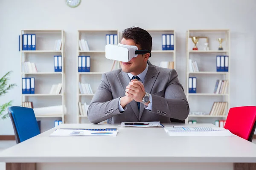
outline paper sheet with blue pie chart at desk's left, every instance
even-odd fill
[[[116,136],[118,130],[95,131],[95,130],[75,130],[75,129],[57,129],[49,136]]]

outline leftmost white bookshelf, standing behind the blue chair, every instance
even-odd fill
[[[35,34],[35,50],[23,50],[23,34]],[[65,36],[63,30],[30,30],[23,29],[20,32],[20,73],[21,87],[23,85],[22,78],[35,78],[35,94],[23,94],[21,89],[21,105],[23,102],[33,102],[34,109],[41,109],[41,114],[35,113],[38,120],[41,120],[41,132],[54,127],[55,120],[61,120],[64,123],[65,114],[65,72],[64,72],[64,46]],[[61,41],[60,50],[55,49],[56,40]],[[61,56],[61,72],[55,72],[54,56]],[[24,62],[35,63],[36,72],[24,71]],[[62,84],[60,94],[50,94],[53,84]],[[44,112],[44,108],[58,105],[60,112],[54,113]],[[36,112],[36,111],[35,111]],[[61,113],[61,114],[60,114]],[[47,123],[46,123],[47,122]],[[51,122],[49,124],[48,122]],[[49,126],[49,127],[45,127]]]

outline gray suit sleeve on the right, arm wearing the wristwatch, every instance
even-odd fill
[[[153,104],[151,112],[185,120],[189,115],[189,103],[177,77],[177,72],[174,69],[170,71],[164,97],[151,94]]]

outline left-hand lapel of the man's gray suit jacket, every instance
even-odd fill
[[[128,76],[127,73],[121,71],[119,74],[116,74],[122,89],[124,91],[125,94],[125,89],[126,86],[129,84],[129,82],[131,82],[130,77]],[[137,102],[135,102],[134,100],[132,102],[130,102],[128,105],[131,105],[132,110],[134,111],[135,115],[137,116],[137,118],[139,119],[139,109],[138,109],[138,105]]]

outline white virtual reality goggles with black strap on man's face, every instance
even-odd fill
[[[137,57],[138,54],[147,54],[151,53],[148,50],[138,50],[138,47],[135,45],[111,45],[108,44],[105,47],[105,54],[107,59],[113,59],[122,62],[129,62],[133,57]]]

